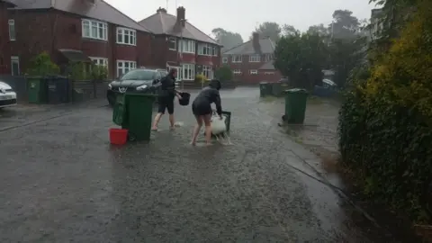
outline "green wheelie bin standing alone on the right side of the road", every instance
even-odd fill
[[[305,89],[293,88],[285,90],[284,94],[285,114],[283,120],[287,123],[302,124],[309,93]]]

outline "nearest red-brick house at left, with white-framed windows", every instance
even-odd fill
[[[14,36],[8,34],[6,49],[15,64],[9,74],[25,72],[41,51],[60,67],[93,61],[107,67],[110,77],[150,64],[150,31],[103,0],[8,1],[17,6],[7,10]]]

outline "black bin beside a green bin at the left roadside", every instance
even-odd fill
[[[69,80],[66,76],[47,76],[48,103],[69,102]]]

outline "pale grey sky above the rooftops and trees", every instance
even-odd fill
[[[124,14],[139,21],[155,14],[166,0],[105,0]],[[175,15],[175,2],[186,9],[186,19],[207,34],[221,27],[241,34],[247,40],[258,23],[288,23],[301,31],[320,23],[331,23],[336,9],[351,10],[359,19],[369,19],[369,0],[169,0],[168,13]]]

